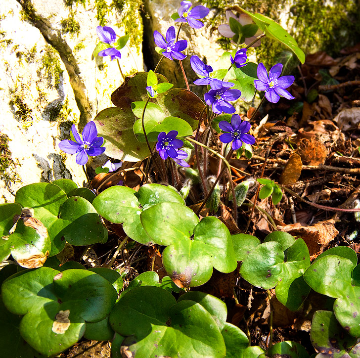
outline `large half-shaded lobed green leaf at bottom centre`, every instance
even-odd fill
[[[119,334],[133,335],[124,344],[135,357],[225,356],[225,343],[211,314],[194,301],[176,304],[169,292],[158,287],[136,287],[122,296],[110,323]]]

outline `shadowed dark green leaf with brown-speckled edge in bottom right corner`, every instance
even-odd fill
[[[311,343],[318,352],[331,357],[349,357],[347,352],[356,343],[336,320],[334,313],[329,311],[316,311],[310,332]]]

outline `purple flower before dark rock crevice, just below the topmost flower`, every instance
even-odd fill
[[[155,44],[160,48],[163,48],[165,51],[162,54],[169,58],[169,60],[183,60],[186,56],[181,53],[187,46],[186,40],[180,40],[175,42],[175,27],[169,27],[168,31],[166,32],[166,40],[160,34],[159,31],[154,31],[154,40]]]

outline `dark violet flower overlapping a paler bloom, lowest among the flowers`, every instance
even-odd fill
[[[178,131],[170,131],[168,134],[161,132],[158,135],[156,150],[159,152],[161,159],[165,160],[170,157],[179,165],[189,167],[184,160],[187,157],[186,152],[184,150],[178,150],[183,146],[183,141],[176,139],[178,134]]]

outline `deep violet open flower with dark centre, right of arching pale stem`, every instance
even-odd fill
[[[232,141],[232,149],[237,150],[242,146],[242,143],[245,144],[254,144],[255,138],[246,134],[250,130],[250,123],[246,121],[241,122],[241,118],[238,114],[231,116],[231,124],[226,121],[219,122],[219,127],[228,133],[220,135],[220,140],[223,143],[229,143]]]

